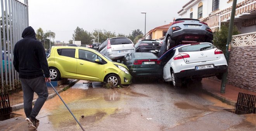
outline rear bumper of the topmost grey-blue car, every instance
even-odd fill
[[[175,37],[178,37],[180,35],[185,35],[185,34],[191,34],[191,35],[206,35],[209,38],[213,39],[213,34],[206,31],[206,30],[195,30],[195,29],[183,29],[183,30],[178,30],[176,32],[173,32],[171,34],[171,39],[175,39]]]

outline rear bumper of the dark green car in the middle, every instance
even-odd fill
[[[163,76],[162,68],[146,68],[146,69],[129,69],[133,77],[161,77]]]

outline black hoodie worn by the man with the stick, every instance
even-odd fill
[[[13,65],[19,72],[19,78],[32,79],[45,74],[50,77],[50,71],[43,44],[36,40],[36,33],[32,27],[27,27],[22,32],[22,40],[14,46]]]

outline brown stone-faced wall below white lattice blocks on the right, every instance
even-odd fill
[[[231,48],[228,84],[256,92],[256,46]]]

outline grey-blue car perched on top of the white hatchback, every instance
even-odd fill
[[[178,18],[169,27],[158,57],[167,50],[180,45],[198,42],[212,42],[213,32],[205,22],[192,18]]]

